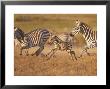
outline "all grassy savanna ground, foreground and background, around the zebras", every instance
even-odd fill
[[[93,30],[96,30],[96,14],[15,14],[14,24],[24,32],[30,32],[36,28],[46,28],[57,34],[70,32],[75,26],[75,20],[79,19],[87,23]],[[74,51],[78,57],[85,41],[81,34],[75,37]],[[53,46],[45,45],[43,54],[47,54]],[[96,76],[97,75],[97,49],[88,50],[93,53],[86,54],[82,58],[74,61],[66,51],[57,51],[50,60],[43,55],[26,56],[19,55],[20,47],[14,49],[14,75],[15,76]],[[35,48],[30,48],[29,53],[33,53]]]

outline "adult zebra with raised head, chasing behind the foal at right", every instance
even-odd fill
[[[88,53],[87,50],[97,47],[97,31],[93,31],[88,24],[81,22],[80,20],[76,20],[76,26],[73,28],[72,32],[70,32],[70,36],[74,37],[79,33],[82,34],[86,41],[86,45],[84,46],[79,58],[82,57],[84,52],[90,56],[90,53]]]

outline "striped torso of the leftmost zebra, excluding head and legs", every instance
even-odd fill
[[[43,46],[50,37],[50,32],[47,29],[36,29],[25,34],[25,42],[30,47]]]

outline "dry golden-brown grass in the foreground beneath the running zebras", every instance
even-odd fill
[[[32,50],[31,50],[32,51]],[[31,53],[30,51],[30,53]],[[79,56],[81,49],[75,48]],[[47,60],[47,57],[19,55],[15,50],[15,75],[22,76],[95,76],[97,73],[96,49],[89,50],[94,55],[83,55],[74,61],[66,51],[57,51],[55,57]],[[44,49],[43,53],[49,52]]]

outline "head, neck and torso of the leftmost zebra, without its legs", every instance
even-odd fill
[[[29,33],[24,34],[21,29],[17,29],[14,32],[15,37],[19,42],[23,43],[23,46],[28,47],[44,46],[46,41],[50,37],[50,32],[47,29],[35,29]]]

